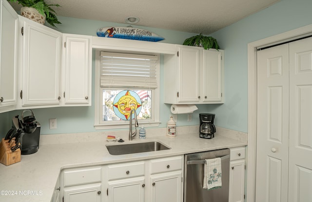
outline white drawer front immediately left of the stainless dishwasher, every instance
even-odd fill
[[[182,157],[170,157],[151,160],[151,174],[182,169]]]

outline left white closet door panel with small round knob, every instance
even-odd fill
[[[288,44],[257,53],[256,202],[287,202]]]

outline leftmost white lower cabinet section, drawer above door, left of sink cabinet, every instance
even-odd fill
[[[101,167],[64,169],[60,174],[60,201],[101,202],[101,182]]]

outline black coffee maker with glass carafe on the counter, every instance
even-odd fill
[[[211,139],[215,137],[215,114],[199,114],[199,137]]]

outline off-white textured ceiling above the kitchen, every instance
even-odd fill
[[[46,0],[58,16],[211,34],[280,0]],[[15,9],[20,6],[13,4]]]

